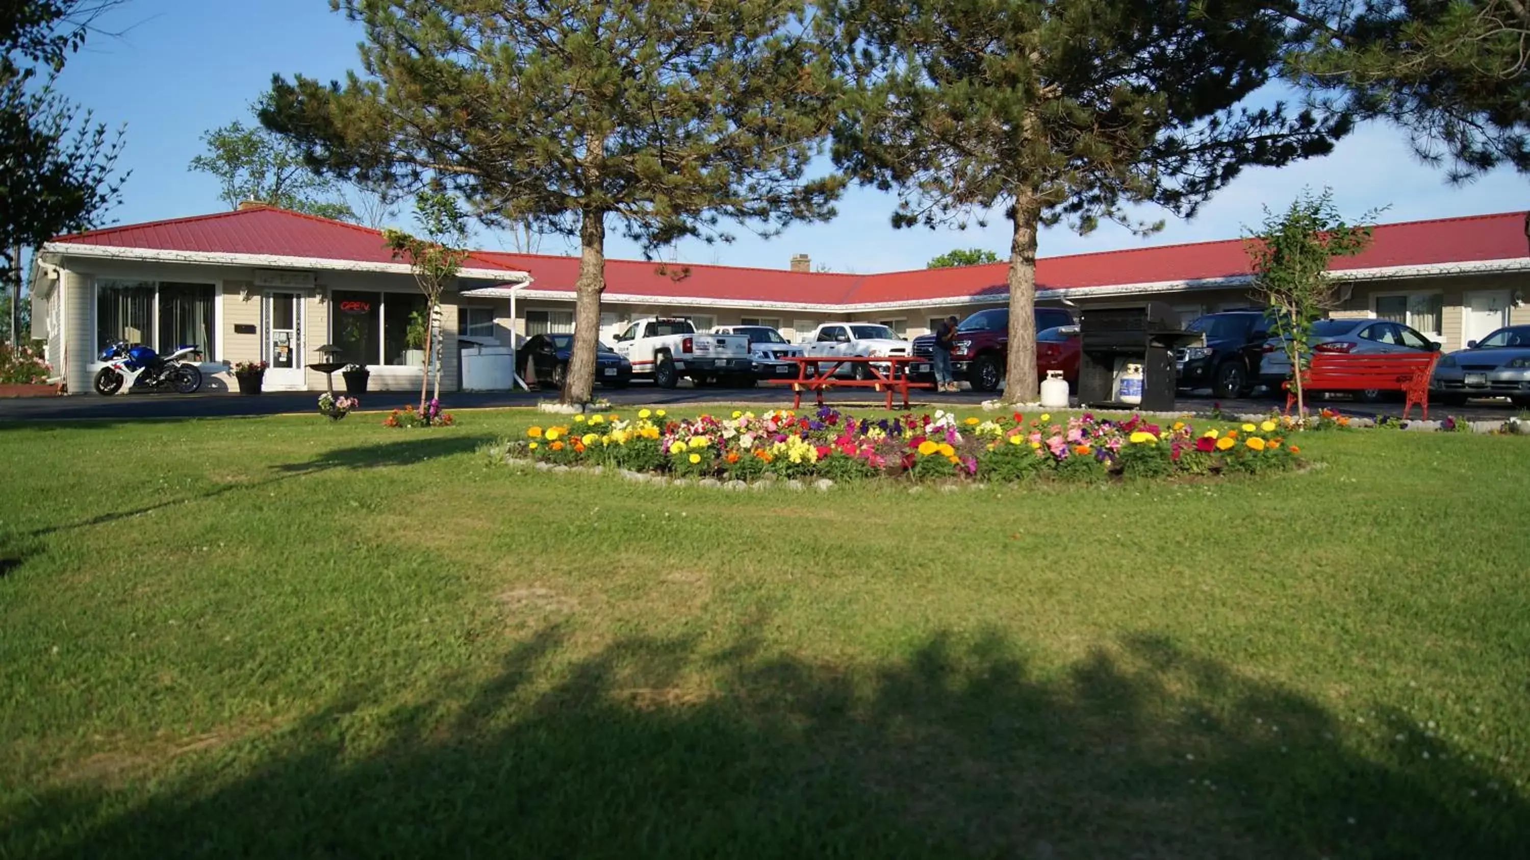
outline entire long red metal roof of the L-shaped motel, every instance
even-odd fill
[[[1371,246],[1354,257],[1336,259],[1334,269],[1525,259],[1530,257],[1527,216],[1530,213],[1516,211],[1379,225]],[[395,262],[376,230],[274,207],[112,226],[63,236],[55,242]],[[529,272],[532,289],[572,291],[578,277],[577,257],[476,251],[468,265]],[[687,297],[811,305],[926,301],[985,294],[999,298],[1007,291],[1005,274],[1007,263],[855,275],[607,260],[606,292],[658,300]],[[1242,239],[1043,257],[1036,263],[1036,282],[1042,289],[1175,283],[1247,274],[1248,256]]]

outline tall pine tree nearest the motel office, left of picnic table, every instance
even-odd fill
[[[806,179],[838,84],[799,0],[337,0],[363,75],[272,84],[262,121],[309,164],[438,182],[490,226],[577,237],[566,402],[595,378],[606,228],[652,249],[832,216]]]

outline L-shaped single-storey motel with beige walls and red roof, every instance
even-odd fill
[[[1388,223],[1371,246],[1334,260],[1334,315],[1406,323],[1444,350],[1510,323],[1530,323],[1530,213]],[[874,260],[863,263],[874,268]],[[871,321],[915,337],[947,317],[1004,306],[1005,263],[883,274],[609,260],[601,338],[650,315],[776,326],[789,340],[829,320]],[[442,389],[461,389],[462,349],[496,352],[574,327],[577,257],[474,251],[444,298]],[[1244,242],[1198,242],[1045,257],[1037,300],[1161,300],[1183,321],[1253,306]],[[323,390],[306,370],[332,344],[364,364],[372,390],[418,390],[422,353],[410,314],[424,297],[381,233],[246,204],[237,211],[60,236],[31,269],[32,335],[69,393],[89,393],[101,350],[119,340],[161,353],[203,349],[205,386],[233,386],[228,366],[269,363],[268,390]],[[494,349],[502,347],[502,349]],[[509,349],[503,349],[509,347]]]

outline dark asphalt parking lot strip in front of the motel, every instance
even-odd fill
[[[539,401],[551,399],[552,392],[464,392],[444,396],[447,409],[497,409],[497,407],[528,407]],[[696,389],[690,383],[682,383],[676,389],[658,389],[650,384],[633,384],[627,389],[600,389],[598,396],[609,399],[615,406],[698,406],[698,404],[759,404],[760,407],[791,406],[791,393],[762,386],[757,389]],[[918,392],[913,401],[915,409],[964,407],[976,409],[982,401],[996,395],[978,392],[935,393]],[[69,419],[168,419],[168,418],[231,418],[248,415],[282,415],[294,412],[315,412],[315,392],[269,392],[260,396],[240,396],[236,393],[141,393],[116,395],[103,398],[96,395],[63,396],[63,398],[15,398],[0,399],[0,422],[14,421],[69,421]],[[878,406],[881,398],[869,396],[864,390],[829,392],[825,399],[840,406]],[[398,409],[404,404],[416,402],[410,392],[376,392],[361,398],[364,410]],[[803,398],[803,402],[812,402]],[[1181,396],[1175,401],[1175,409],[1184,412],[1207,412],[1213,406],[1210,396]],[[1284,401],[1274,398],[1252,398],[1236,401],[1221,401],[1226,413],[1265,413],[1284,407]],[[1383,401],[1375,404],[1356,402],[1353,399],[1334,398],[1317,401],[1314,406],[1325,406],[1348,415],[1401,415],[1401,401]],[[1518,415],[1509,401],[1472,401],[1464,407],[1435,406],[1431,410],[1434,418],[1458,415],[1473,421],[1507,419]],[[1414,410],[1414,416],[1418,410]]]

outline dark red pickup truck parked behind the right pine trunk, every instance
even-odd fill
[[[1062,370],[1069,386],[1079,384],[1079,327],[1063,308],[1036,309],[1036,372]],[[1010,357],[1010,309],[978,311],[956,326],[952,349],[952,376],[972,383],[973,390],[994,392],[1004,381]],[[929,358],[935,335],[913,338],[913,355]]]

